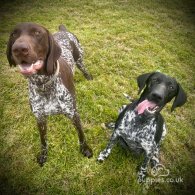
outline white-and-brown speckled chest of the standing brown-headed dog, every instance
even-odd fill
[[[29,101],[36,117],[52,114],[74,115],[73,99],[58,76],[49,86],[43,88],[49,76],[33,75],[29,79]]]

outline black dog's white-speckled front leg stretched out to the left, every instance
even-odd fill
[[[110,155],[111,150],[117,141],[117,138],[118,138],[118,134],[116,133],[116,131],[114,131],[114,133],[111,136],[110,141],[108,142],[106,149],[104,149],[99,154],[99,157],[97,159],[99,162],[103,162]]]

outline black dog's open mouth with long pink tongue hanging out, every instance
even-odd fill
[[[150,114],[154,114],[158,109],[159,106],[156,103],[147,99],[139,103],[136,107],[136,111],[138,112],[138,114],[144,113],[145,110]]]

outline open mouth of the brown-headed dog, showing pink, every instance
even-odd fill
[[[32,64],[22,61],[21,64],[19,64],[18,66],[22,74],[31,75],[35,74],[38,70],[40,70],[43,67],[43,63],[43,60],[37,60]]]

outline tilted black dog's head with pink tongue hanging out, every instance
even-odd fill
[[[137,78],[139,93],[142,92],[137,106],[138,114],[148,112],[155,114],[160,112],[166,103],[174,97],[171,111],[182,106],[187,100],[187,96],[181,85],[172,77],[159,72],[152,72],[140,75]]]

